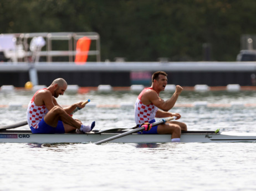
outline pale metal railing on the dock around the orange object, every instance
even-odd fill
[[[95,61],[100,62],[100,36],[98,33],[89,32],[89,33],[13,33],[13,34],[1,34],[4,35],[13,35],[13,42],[16,46],[19,46],[19,51],[21,51],[20,47],[22,46],[22,54],[17,54],[18,50],[5,50],[9,51],[9,55],[12,55],[12,61],[23,61],[30,62],[31,57],[33,55],[33,51],[30,50],[30,42],[33,38],[42,36],[45,40],[45,46],[42,47],[42,50],[37,52],[37,56],[46,57],[47,62],[53,62],[53,57],[68,57],[69,62],[74,62],[76,55],[76,43],[80,38],[86,36],[91,40],[90,50],[88,52],[84,52],[89,56],[95,56]],[[1,39],[0,39],[1,40]],[[67,41],[67,46],[63,47],[63,45],[58,45],[58,42]],[[57,42],[57,44],[56,44]],[[53,46],[55,43],[55,46]],[[54,50],[54,47],[62,47],[62,50]],[[1,50],[0,50],[1,51]],[[2,50],[3,51],[3,50]],[[80,52],[81,54],[81,52]],[[83,54],[83,52],[82,52]]]

